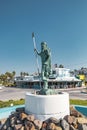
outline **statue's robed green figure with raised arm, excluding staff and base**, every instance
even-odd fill
[[[51,52],[50,49],[47,47],[46,42],[41,43],[41,52],[39,53],[36,49],[35,52],[41,57],[41,76],[42,80],[46,80],[49,78],[51,74]]]

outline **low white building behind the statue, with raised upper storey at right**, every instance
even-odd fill
[[[43,82],[39,76],[16,77],[14,79],[17,87],[41,88]],[[81,80],[70,74],[70,69],[54,68],[48,79],[49,88],[70,88],[79,86]]]

